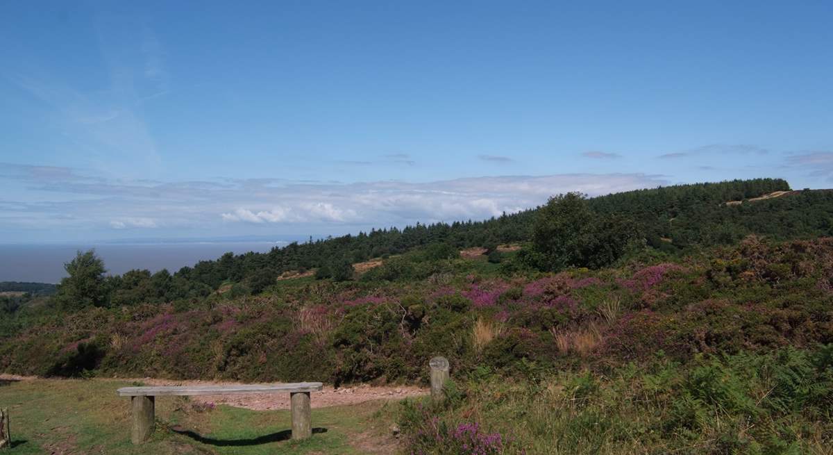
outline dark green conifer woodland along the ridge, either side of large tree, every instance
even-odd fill
[[[616,193],[591,198],[588,203],[600,216],[615,214],[632,220],[644,243],[664,253],[736,243],[751,233],[781,240],[833,235],[833,192],[802,191],[754,204],[725,203],[787,190],[789,185],[783,180],[736,180]],[[454,250],[491,251],[501,243],[528,242],[537,216],[538,209],[530,209],[482,222],[417,224],[292,243],[269,253],[227,253],[172,274],[136,270],[109,279],[110,291],[103,299],[107,304],[125,305],[206,298],[224,283],[239,283],[238,294],[260,293],[282,275],[305,275],[313,268],[317,278],[349,279],[351,264],[415,249],[446,245]]]

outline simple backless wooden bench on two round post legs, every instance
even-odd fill
[[[120,397],[130,397],[133,426],[130,440],[147,441],[153,433],[154,402],[164,395],[227,395],[232,393],[289,393],[292,408],[292,439],[312,435],[310,393],[320,392],[322,383],[252,384],[238,386],[160,386],[126,387],[117,390]]]

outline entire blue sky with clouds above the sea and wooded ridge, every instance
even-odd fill
[[[833,187],[833,3],[7,2],[0,243]]]

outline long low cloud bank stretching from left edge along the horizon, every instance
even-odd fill
[[[639,173],[497,176],[408,183],[310,183],[285,179],[214,182],[112,181],[72,168],[2,165],[0,186],[29,200],[0,200],[0,233],[95,238],[240,233],[338,234],[357,229],[498,217],[553,194],[616,193],[667,184]],[[17,234],[15,234],[17,233]],[[25,238],[24,238],[25,240]]]

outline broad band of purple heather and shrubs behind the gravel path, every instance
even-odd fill
[[[290,283],[279,293],[209,298],[191,308],[87,308],[33,319],[2,338],[0,368],[47,373],[92,344],[103,356],[102,374],[210,372],[274,381],[314,370],[332,381],[413,381],[425,380],[424,365],[435,355],[466,375],[482,365],[501,372],[522,362],[603,368],[644,362],[658,350],[686,360],[831,343],[831,266],[824,261],[833,243],[756,248],[724,248],[716,258],[688,258],[685,267],[661,262],[636,272]],[[559,349],[558,338],[593,348]],[[290,351],[302,355],[290,361]]]

